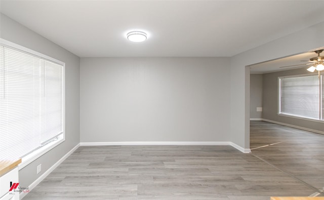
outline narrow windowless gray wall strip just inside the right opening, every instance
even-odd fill
[[[262,112],[257,111],[262,107],[262,74],[250,75],[250,118],[262,118]]]

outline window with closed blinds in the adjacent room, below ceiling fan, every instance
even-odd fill
[[[279,77],[279,113],[324,120],[323,75]]]

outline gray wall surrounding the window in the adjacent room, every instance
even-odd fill
[[[324,123],[278,115],[278,77],[310,73],[307,68],[263,74],[263,118],[303,128],[324,131]],[[317,73],[313,73],[317,75]]]

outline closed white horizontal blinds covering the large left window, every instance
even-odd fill
[[[0,159],[16,159],[63,133],[63,66],[0,46]]]

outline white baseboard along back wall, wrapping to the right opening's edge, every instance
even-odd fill
[[[109,145],[230,145],[243,153],[250,149],[242,148],[233,142],[80,142],[80,146],[109,146]]]

